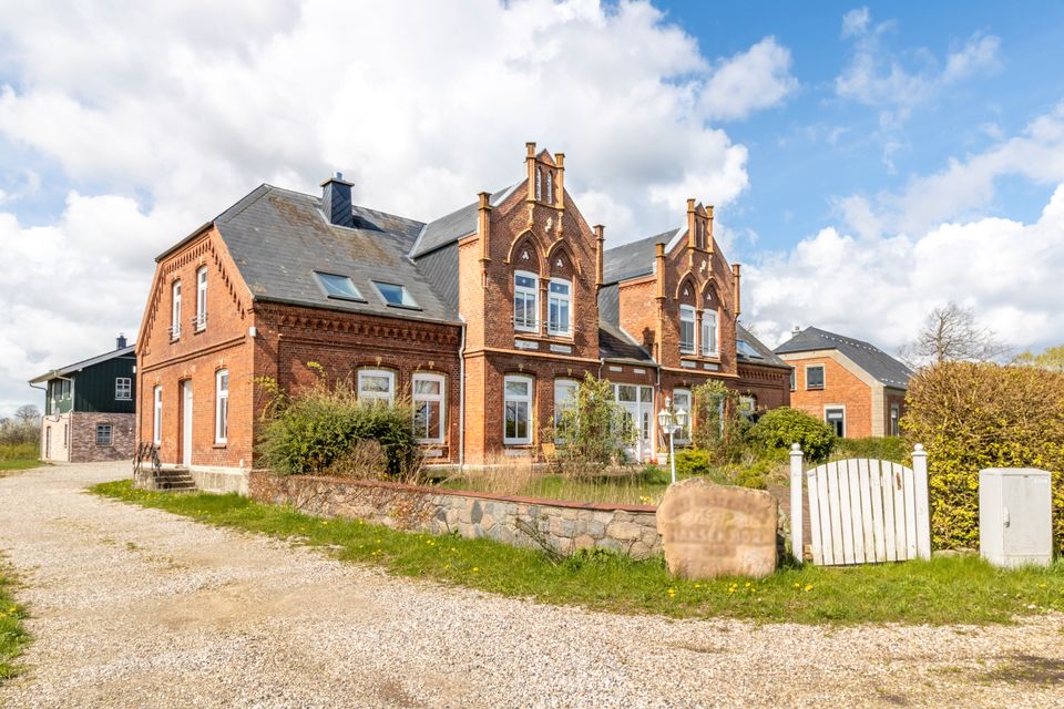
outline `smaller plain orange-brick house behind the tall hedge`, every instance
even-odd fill
[[[874,345],[795,328],[776,348],[791,369],[791,405],[849,439],[898,435],[912,371]]]

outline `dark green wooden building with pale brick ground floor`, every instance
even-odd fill
[[[86,462],[133,458],[136,354],[119,336],[115,349],[35,377],[44,391],[41,460]]]

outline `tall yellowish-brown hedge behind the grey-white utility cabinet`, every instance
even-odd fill
[[[901,420],[928,451],[931,535],[938,547],[979,546],[979,471],[1053,474],[1054,545],[1064,551],[1064,373],[944,362],[909,382]]]

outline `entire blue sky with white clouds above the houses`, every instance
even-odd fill
[[[0,415],[259,183],[431,219],[566,154],[607,246],[717,207],[743,320],[1064,342],[1064,4],[0,0]],[[350,28],[358,28],[352,32]]]

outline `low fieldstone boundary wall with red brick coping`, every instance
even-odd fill
[[[542,542],[563,554],[603,548],[647,558],[662,553],[651,505],[573,503],[265,471],[249,474],[248,496],[306,514],[365,520],[397,530],[457,531],[467,538],[524,547]]]

